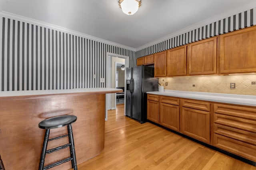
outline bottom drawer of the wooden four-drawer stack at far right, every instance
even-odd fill
[[[214,134],[214,146],[256,162],[256,146]]]

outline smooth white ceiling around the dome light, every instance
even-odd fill
[[[142,0],[138,12],[128,16],[118,0],[0,0],[3,12],[132,48],[213,16],[228,17],[255,6],[256,0]]]

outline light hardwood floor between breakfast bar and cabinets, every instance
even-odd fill
[[[108,112],[105,148],[79,170],[256,170],[151,123],[124,116],[124,105]]]

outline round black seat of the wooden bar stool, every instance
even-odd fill
[[[38,124],[38,127],[42,129],[60,128],[68,124],[74,123],[76,119],[77,117],[74,115],[51,117],[40,122]]]

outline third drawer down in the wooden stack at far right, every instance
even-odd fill
[[[214,133],[220,134],[229,138],[247,142],[256,146],[256,133],[240,130],[237,128],[227,127],[224,125],[214,124]]]

